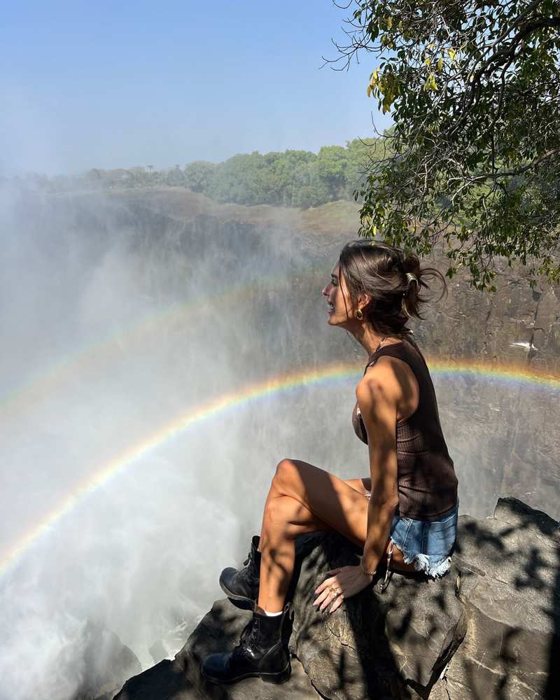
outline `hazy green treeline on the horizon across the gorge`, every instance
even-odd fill
[[[157,170],[153,165],[131,169],[91,169],[83,176],[29,176],[48,190],[103,190],[155,186],[185,187],[216,202],[272,204],[276,207],[318,207],[351,199],[365,167],[381,158],[378,139],[354,139],[343,146],[311,151],[258,151],[234,155],[223,163],[202,160],[184,168]]]

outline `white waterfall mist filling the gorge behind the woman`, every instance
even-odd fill
[[[0,575],[0,698],[68,700],[99,688],[111,633],[143,668],[179,650],[221,597],[221,569],[259,531],[281,458],[368,472],[351,381],[241,405],[158,442],[162,430],[248,384],[363,353],[328,327],[321,297],[342,237],[309,252],[281,221],[186,222],[109,196],[8,188],[0,217],[1,564],[41,531]],[[535,447],[542,415],[558,412],[552,394],[435,383],[463,512],[491,514],[512,441],[554,482],[556,444],[541,431]],[[110,465],[121,468],[84,493]],[[526,478],[508,478],[524,498]],[[548,506],[535,484],[524,500]]]

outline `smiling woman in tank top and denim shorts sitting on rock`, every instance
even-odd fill
[[[323,295],[328,324],[348,330],[369,357],[352,421],[369,446],[370,478],[344,481],[297,459],[279,463],[247,566],[225,569],[220,579],[232,600],[251,604],[253,619],[235,650],[204,659],[208,680],[290,677],[282,628],[297,535],[336,530],[363,548],[358,566],[329,571],[316,589],[321,611],[335,612],[384,563],[387,575],[391,568],[435,578],[449,569],[457,479],[428,367],[406,327],[408,318],[421,318],[419,291],[430,277],[445,285],[415,255],[377,241],[353,241],[340,253]]]

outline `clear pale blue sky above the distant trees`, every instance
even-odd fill
[[[387,116],[372,57],[321,68],[344,39],[331,0],[6,3],[0,173],[169,167],[344,145]]]

